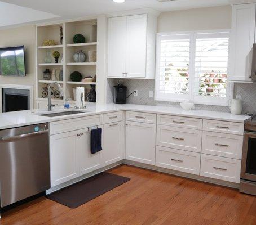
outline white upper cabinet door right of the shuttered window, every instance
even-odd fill
[[[229,79],[251,81],[252,48],[255,38],[256,4],[233,6],[229,46]]]

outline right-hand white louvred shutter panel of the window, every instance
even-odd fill
[[[228,33],[199,34],[195,52],[195,98],[227,97]]]

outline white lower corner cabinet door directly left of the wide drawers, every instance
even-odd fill
[[[155,165],[156,125],[126,122],[126,159]]]

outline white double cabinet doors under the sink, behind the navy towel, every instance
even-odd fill
[[[103,167],[102,151],[91,154],[90,136],[87,128],[50,136],[52,187]]]

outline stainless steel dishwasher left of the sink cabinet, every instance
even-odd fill
[[[1,208],[49,188],[48,124],[1,130]]]

